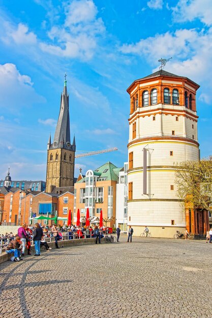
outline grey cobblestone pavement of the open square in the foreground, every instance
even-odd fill
[[[0,317],[212,317],[212,244],[120,240],[0,265]]]

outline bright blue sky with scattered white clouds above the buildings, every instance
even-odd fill
[[[0,0],[0,179],[46,176],[64,73],[77,150],[118,151],[76,160],[75,175],[127,161],[126,89],[165,70],[189,77],[197,93],[201,156],[211,154],[210,0]]]

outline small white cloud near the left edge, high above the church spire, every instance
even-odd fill
[[[12,39],[16,44],[22,45],[32,45],[37,43],[37,37],[33,32],[28,31],[28,26],[22,23],[19,23],[17,29],[11,23],[6,24],[6,35],[3,36],[2,39],[8,41],[8,39]]]

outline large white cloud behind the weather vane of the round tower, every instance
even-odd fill
[[[212,101],[209,93],[212,79],[208,72],[212,68],[212,27],[208,30],[180,29],[174,33],[157,34],[135,44],[125,44],[120,50],[126,54],[144,56],[154,65],[161,56],[173,57],[165,69],[189,77],[200,85],[204,83],[200,100],[207,104]],[[153,72],[158,69],[159,63]]]

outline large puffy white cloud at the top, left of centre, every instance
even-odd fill
[[[40,43],[41,50],[57,56],[92,58],[105,31],[97,13],[93,0],[73,1],[66,9],[64,25],[54,24],[48,32],[52,43]]]

